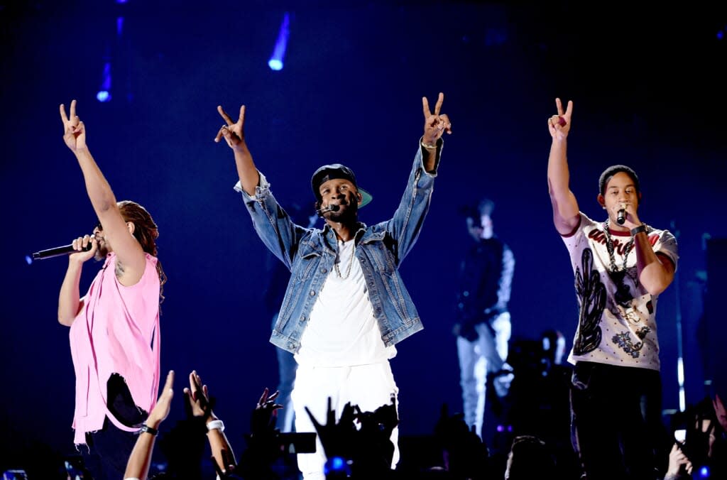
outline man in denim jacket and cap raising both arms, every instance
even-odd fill
[[[422,98],[424,135],[417,145],[406,191],[393,217],[376,225],[358,221],[358,209],[371,200],[358,187],[353,171],[324,165],[311,180],[324,228],[303,228],[278,205],[270,184],[252,161],[244,137],[245,107],[233,122],[225,119],[215,141],[233,149],[242,193],[255,231],[291,271],[270,342],[295,354],[298,369],[292,399],[297,432],[315,431],[305,408],[326,418],[327,399],[337,417],[345,404],[373,412],[392,402],[398,388],[389,361],[395,344],[422,329],[417,309],[403,285],[398,266],[417,241],[429,209],[442,150],[451,123]],[[398,462],[398,431],[391,435],[392,468]],[[326,456],[299,454],[304,479],[324,479]]]

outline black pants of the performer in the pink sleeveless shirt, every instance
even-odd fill
[[[138,426],[146,420],[147,412],[134,404],[124,377],[113,374],[108,379],[108,409],[127,426]],[[124,478],[137,434],[119,430],[108,420],[100,431],[86,433],[86,447],[80,447],[84,463],[94,480],[120,480]]]

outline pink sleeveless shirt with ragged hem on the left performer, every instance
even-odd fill
[[[159,388],[159,276],[156,257],[146,255],[141,279],[125,287],[116,279],[116,254],[106,257],[71,325],[71,357],[76,372],[73,442],[103,427],[105,417],[124,431],[106,407],[106,383],[118,373],[138,407],[150,412]]]

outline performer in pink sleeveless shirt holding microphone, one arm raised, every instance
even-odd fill
[[[94,479],[121,479],[136,434],[159,386],[159,303],[166,281],[156,258],[158,228],[133,201],[116,201],[86,145],[86,128],[60,105],[63,140],[79,161],[99,223],[79,237],[58,297],[58,321],[71,327],[76,372],[74,443]],[[86,251],[90,244],[90,249]],[[103,261],[84,297],[84,263]],[[84,447],[85,445],[85,447]]]

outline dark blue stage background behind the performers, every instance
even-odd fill
[[[161,364],[177,372],[169,425],[182,417],[181,388],[197,369],[241,449],[249,411],[262,388],[277,384],[262,305],[266,251],[233,191],[232,153],[212,141],[222,124],[217,105],[233,116],[247,105],[249,146],[281,204],[312,208],[311,173],[342,162],[374,196],[361,210],[370,224],[397,206],[422,133],[421,98],[433,104],[438,92],[453,134],[445,138],[425,227],[401,265],[425,324],[398,345],[393,360],[401,435],[433,431],[443,403],[460,407],[451,313],[468,241],[459,208],[468,202],[497,202],[495,231],[515,255],[513,341],[554,327],[570,348],[577,303],[546,182],[546,120],[557,96],[575,103],[569,164],[582,210],[600,218],[598,175],[610,164],[629,164],[642,181],[640,217],[679,232],[678,281],[660,297],[657,317],[664,407],[678,408],[678,301],[686,392],[688,401],[699,401],[704,245],[727,236],[727,46],[720,37],[727,15],[725,7],[674,8],[1,1],[0,204],[8,268],[0,466],[33,451],[74,452],[68,329],[56,321],[67,263],[25,263],[25,255],[68,244],[96,223],[62,140],[58,105],[74,98],[117,198],[143,204],[160,228],[159,258],[169,277]],[[271,71],[268,57],[286,12],[284,68]],[[100,103],[107,61],[112,100]],[[96,269],[87,265],[82,291]]]

